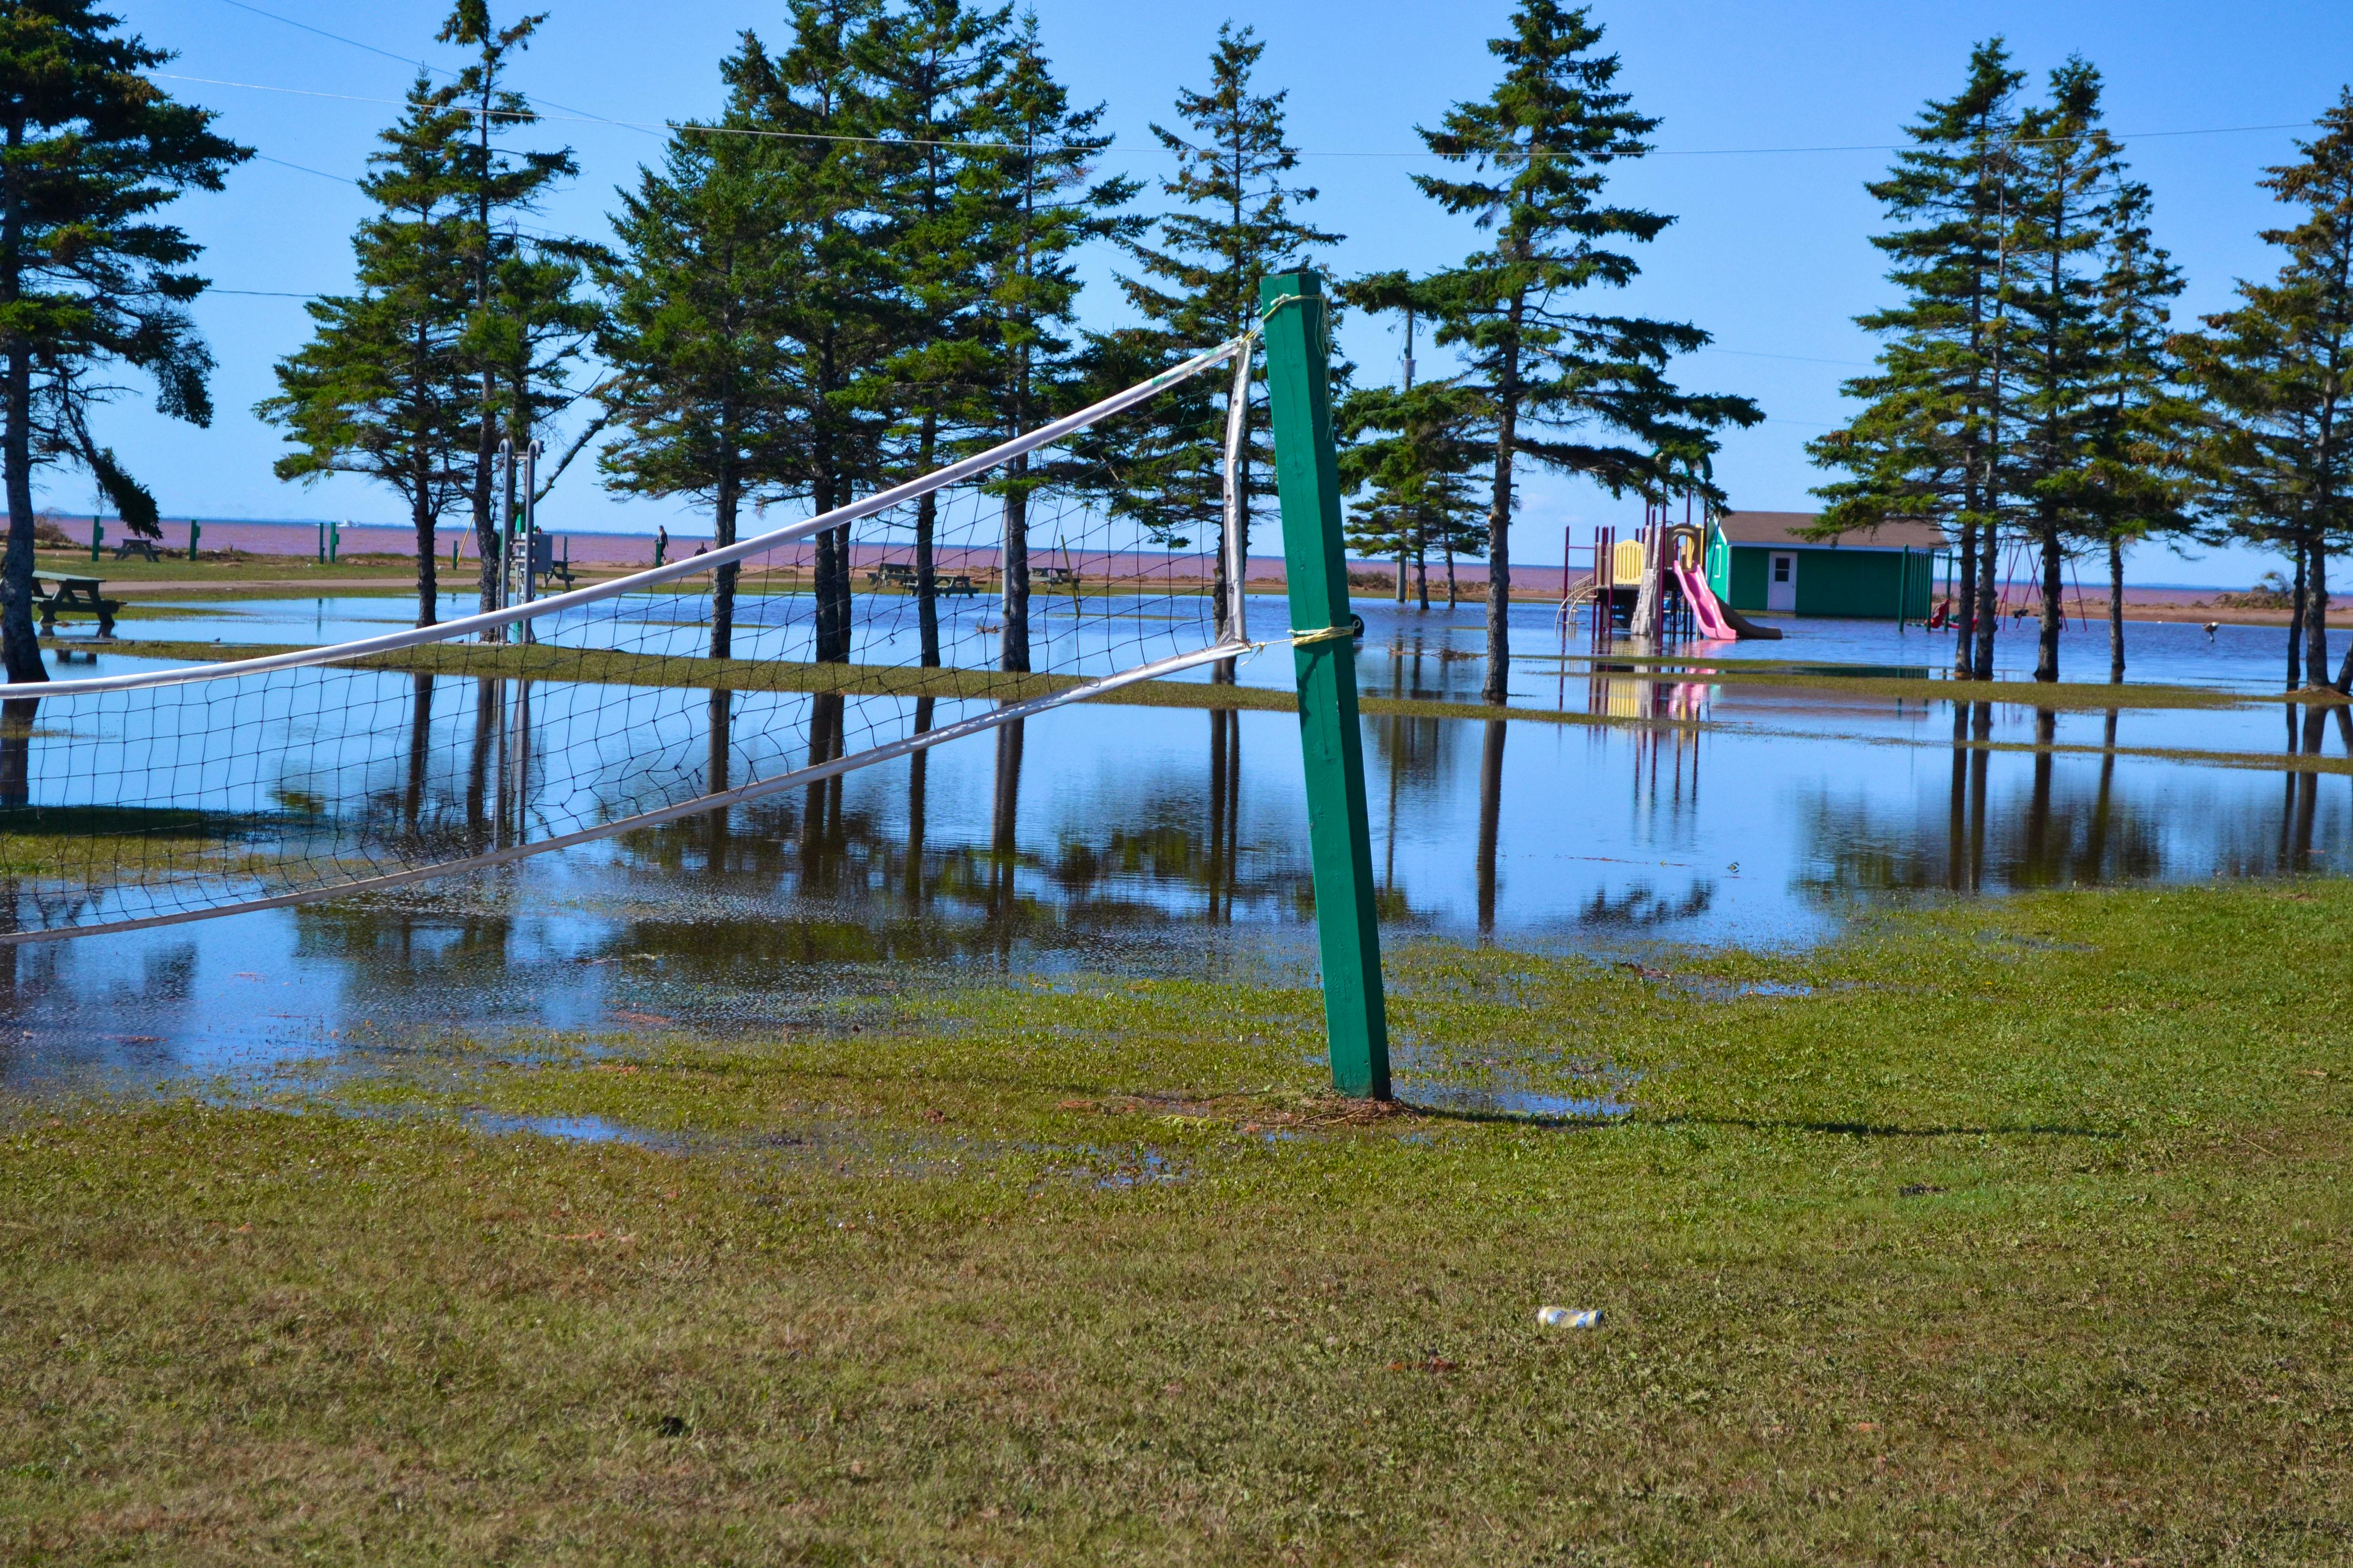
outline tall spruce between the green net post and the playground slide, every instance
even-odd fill
[[[1649,242],[1671,223],[1602,202],[1609,165],[1647,153],[1657,120],[1614,89],[1619,59],[1593,52],[1600,38],[1584,7],[1522,0],[1511,35],[1487,45],[1504,61],[1494,92],[1421,132],[1433,153],[1468,169],[1461,179],[1417,174],[1414,183],[1492,235],[1426,284],[1440,308],[1438,341],[1466,362],[1461,386],[1485,400],[1492,440],[1489,703],[1511,684],[1515,465],[1527,458],[1624,494],[1654,482],[1659,449],[1708,444],[1725,425],[1762,418],[1746,397],[1689,395],[1668,381],[1666,362],[1704,348],[1706,331],[1572,308],[1588,287],[1631,282],[1638,266],[1619,247]]]

